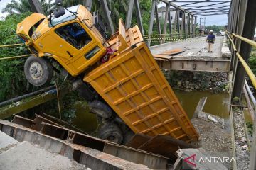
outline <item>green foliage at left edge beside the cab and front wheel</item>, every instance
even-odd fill
[[[21,43],[16,36],[16,25],[30,13],[12,14],[0,21],[0,45]],[[26,47],[0,48],[0,57],[29,54]],[[29,86],[23,74],[25,58],[0,61],[0,101],[28,92]]]

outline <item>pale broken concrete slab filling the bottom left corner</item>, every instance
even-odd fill
[[[40,147],[31,145],[29,142],[21,142],[0,154],[0,169],[27,170],[27,169],[87,169],[85,165],[63,157],[59,154],[50,153]]]

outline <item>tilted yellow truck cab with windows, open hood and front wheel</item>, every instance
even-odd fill
[[[51,74],[48,58],[76,77],[106,53],[105,38],[97,30],[90,11],[81,5],[62,8],[48,17],[33,13],[18,23],[17,35],[33,54],[24,71],[28,81],[36,86],[46,83],[43,73]]]

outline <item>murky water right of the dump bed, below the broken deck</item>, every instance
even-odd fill
[[[196,106],[200,98],[207,97],[203,111],[221,118],[228,118],[229,113],[229,94],[213,94],[208,91],[175,91],[178,100],[181,102],[189,118],[193,117]]]

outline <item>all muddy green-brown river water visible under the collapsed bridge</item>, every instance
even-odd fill
[[[200,98],[205,96],[207,97],[207,101],[203,108],[204,112],[218,115],[225,119],[229,118],[230,96],[228,93],[213,94],[208,91],[175,91],[175,94],[189,118],[193,117],[193,113]],[[250,121],[250,115],[246,111],[245,119],[246,121]],[[85,132],[92,132],[97,128],[97,119],[95,115],[89,113],[85,108],[82,108],[82,106],[77,105],[76,118],[73,119],[73,124]]]

